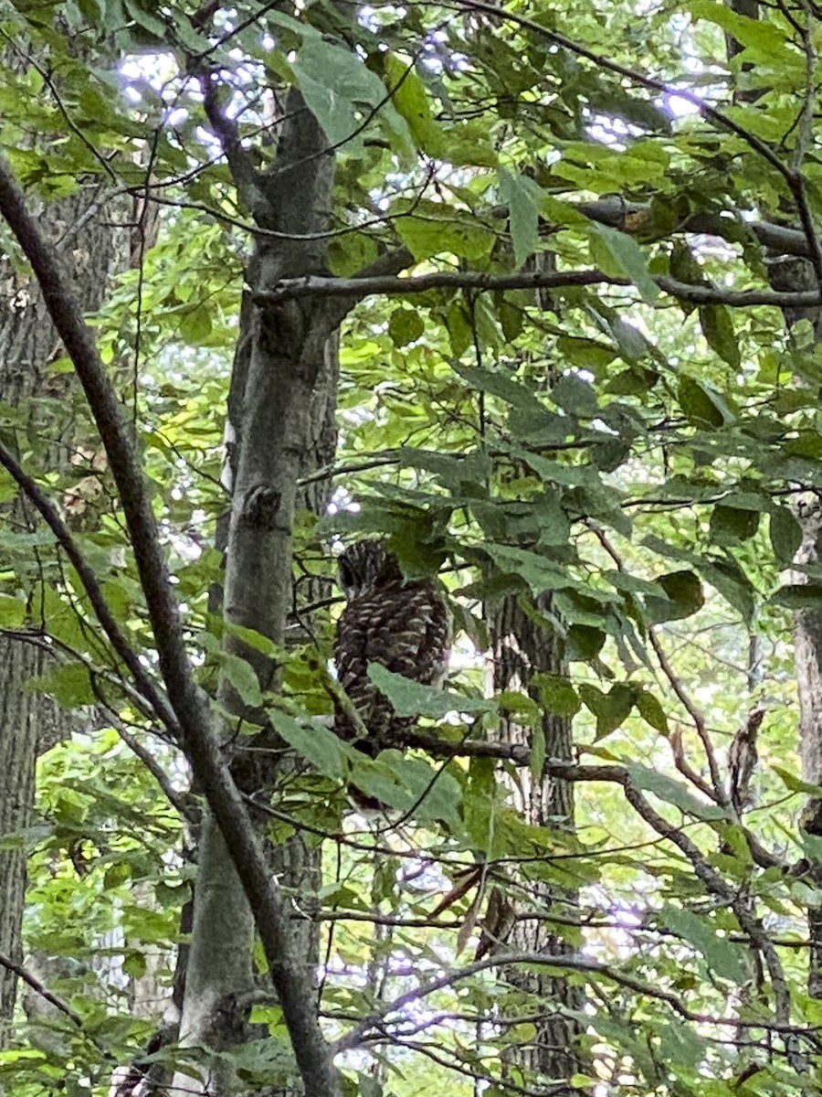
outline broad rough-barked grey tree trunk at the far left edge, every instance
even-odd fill
[[[111,222],[127,215],[112,212],[96,188],[81,188],[72,197],[46,205],[41,214],[56,242],[67,274],[87,312],[100,307],[114,274],[128,264],[129,234]],[[89,208],[100,213],[83,225],[82,247],[72,229]],[[62,241],[62,245],[61,245]],[[60,343],[34,281],[24,281],[11,264],[0,267],[0,399],[26,408],[32,430],[49,439],[49,464],[56,467],[75,443],[75,422],[68,411],[69,382],[65,374],[48,375],[44,366],[58,357]],[[25,439],[21,439],[25,448]],[[31,511],[14,507],[15,521],[27,528]],[[32,621],[33,625],[48,622]],[[25,828],[32,818],[34,767],[38,753],[68,734],[68,715],[47,698],[27,694],[22,687],[45,669],[46,656],[20,640],[0,636],[0,837]],[[0,850],[0,952],[21,958],[21,925],[25,900],[25,849]],[[0,970],[0,1045],[14,1006],[14,980]]]

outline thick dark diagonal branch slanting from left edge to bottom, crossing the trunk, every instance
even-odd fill
[[[116,394],[91,329],[65,284],[56,253],[27,210],[18,181],[2,158],[0,214],[32,264],[100,431],[119,491],[163,681],[182,732],[181,744],[222,833],[253,912],[306,1097],[336,1097],[340,1079],[320,1029],[310,977],[295,951],[288,900],[271,877],[246,804],[220,750],[217,717],[208,698],[194,681],[151,498],[129,433],[123,426]]]

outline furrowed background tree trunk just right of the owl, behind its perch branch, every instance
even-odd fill
[[[549,606],[550,596],[545,596],[536,608],[546,612]],[[490,608],[489,624],[494,653],[494,688],[523,690],[539,703],[534,676],[540,672],[567,674],[560,636],[535,622],[523,610],[515,595],[506,596]],[[570,721],[544,711],[541,727],[546,756],[571,761],[573,740]],[[528,730],[512,721],[503,725],[502,733],[510,743],[529,745]],[[523,769],[517,774],[516,800],[528,823],[553,829],[573,828],[573,785],[570,782],[551,780],[547,774],[535,779]],[[533,906],[543,912],[573,898],[571,893],[564,891],[560,894],[540,881],[530,882],[527,887],[533,896]],[[509,945],[517,951],[549,955],[573,951],[567,941],[539,920],[516,921]],[[504,977],[512,986],[534,995],[543,1009],[543,1019],[537,1024],[533,1039],[527,1044],[510,1049],[509,1070],[527,1071],[540,1076],[541,1089],[546,1094],[564,1092],[568,1088],[566,1079],[584,1070],[574,1044],[581,1029],[573,1016],[582,1009],[582,988],[569,985],[562,977],[516,968],[506,970]]]

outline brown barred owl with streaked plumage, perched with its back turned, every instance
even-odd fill
[[[425,685],[441,685],[448,665],[450,620],[430,579],[402,578],[397,558],[379,541],[358,541],[340,556],[340,586],[349,604],[336,625],[334,657],[340,685],[368,732],[364,749],[376,755],[401,746],[414,719],[398,716],[368,678],[368,664]],[[356,738],[353,722],[338,710],[334,731]]]

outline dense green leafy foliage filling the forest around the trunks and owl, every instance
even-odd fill
[[[808,235],[819,33],[811,5],[760,16],[711,0],[194,15],[114,0],[0,15],[0,134],[32,202],[87,189],[160,203],[158,242],[93,323],[198,680],[214,691],[228,678],[294,751],[271,835],[322,845],[321,1010],[363,1093],[469,1094],[483,1079],[488,1093],[546,1092],[509,1053],[545,1003],[471,959],[494,887],[571,946],[551,970],[584,987],[572,1086],[819,1086],[807,918],[820,850],[800,815],[822,791],[800,774],[791,631],[822,598],[819,565],[796,562],[822,490],[822,262]],[[266,692],[226,654],[209,598],[254,194],[236,185],[204,88],[262,168],[295,83],[336,152],[331,270],[278,292],[362,299],[342,329],[334,505],[300,514],[300,642],[277,653],[283,686]],[[68,228],[82,248],[82,225]],[[25,267],[3,245],[13,287]],[[401,276],[375,273],[367,293],[342,281],[401,249]],[[800,262],[788,253],[809,257],[804,281],[785,274]],[[0,405],[0,438],[156,669],[82,394],[61,352],[43,366],[52,391]],[[0,483],[8,502],[16,487]],[[2,838],[31,850],[26,949],[65,1008],[21,1013],[0,1084],[102,1094],[168,1004],[194,874],[181,813],[196,796],[52,533],[9,513],[0,625],[47,642],[56,658],[33,688],[77,711],[79,731],[41,759],[36,825]],[[467,740],[463,757],[373,760],[322,719],[340,599],[302,591],[364,533],[387,535],[407,576],[439,572],[448,589],[447,692],[375,674],[423,731]],[[546,643],[561,637],[567,674],[492,697],[487,607],[511,595]],[[575,760],[546,760],[546,709],[573,720]],[[528,751],[471,755],[512,720]],[[729,748],[760,721],[742,788]],[[516,790],[544,774],[573,781],[574,829],[521,814]],[[357,814],[352,787],[388,814]],[[270,1039],[242,1044],[236,1064],[275,1084],[290,1068],[279,1008],[264,1002],[253,1019]]]

